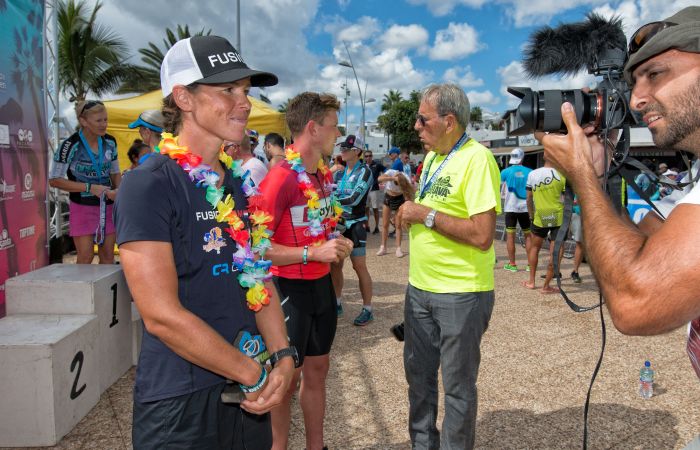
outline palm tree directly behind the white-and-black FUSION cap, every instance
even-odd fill
[[[163,63],[163,58],[170,47],[175,45],[179,40],[186,39],[192,36],[209,36],[211,29],[206,32],[204,29],[196,32],[194,35],[190,33],[189,25],[184,27],[177,25],[175,31],[170,28],[165,29],[165,38],[163,39],[163,48],[161,49],[153,42],[148,43],[148,47],[140,48],[138,52],[141,54],[141,61],[144,65],[137,66],[132,72],[132,76],[122,83],[117,91],[118,94],[127,92],[151,92],[160,89],[160,65]]]

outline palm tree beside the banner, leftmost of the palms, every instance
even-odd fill
[[[111,29],[97,24],[98,1],[92,12],[85,0],[58,2],[58,80],[70,101],[85,100],[88,93],[104,95],[119,87],[133,66],[126,43]]]

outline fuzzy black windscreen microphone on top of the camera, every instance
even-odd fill
[[[543,27],[530,36],[523,67],[530,78],[559,73],[574,75],[591,68],[598,55],[611,48],[626,51],[622,19],[589,13],[584,22]]]

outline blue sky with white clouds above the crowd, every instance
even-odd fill
[[[166,26],[212,29],[235,43],[235,0],[182,2],[105,0],[100,18],[136,49],[162,39]],[[338,65],[350,49],[358,77],[367,81],[367,118],[379,113],[389,89],[421,89],[455,81],[472,105],[501,113],[517,102],[505,88],[580,88],[594,82],[585,73],[528,80],[520,59],[530,33],[543,25],[580,21],[589,11],[623,18],[629,35],[696,0],[241,0],[241,50],[247,63],[269,70],[280,84],[265,95],[278,105],[304,90],[343,96],[351,91],[349,122],[360,118],[352,70]],[[553,6],[556,5],[556,6]],[[136,62],[136,60],[134,61]],[[364,84],[363,84],[364,88]],[[341,121],[344,114],[341,114]]]

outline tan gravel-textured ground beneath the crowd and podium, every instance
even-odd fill
[[[361,300],[346,265],[345,315],[331,353],[325,439],[331,449],[408,449],[403,346],[388,330],[402,320],[409,257],[396,258],[393,241],[389,254],[377,257],[378,237],[368,241],[375,320],[362,328],[352,325]],[[524,250],[517,251],[524,267]],[[580,448],[586,392],[601,348],[600,313],[574,313],[558,295],[522,288],[527,272],[502,269],[502,242],[496,254],[496,305],[482,343],[476,446]],[[565,259],[562,273],[570,272],[571,260]],[[567,277],[562,285],[577,303],[594,304],[598,293],[588,266],[580,273],[582,284]],[[537,280],[541,284],[539,274]],[[683,448],[700,434],[700,386],[685,353],[685,330],[628,337],[614,330],[607,311],[603,317],[607,341],[591,393],[589,447]],[[637,394],[645,359],[657,371],[650,400]],[[131,448],[133,376],[134,369],[108,389],[55,448]],[[304,448],[303,426],[295,401],[290,449]]]

